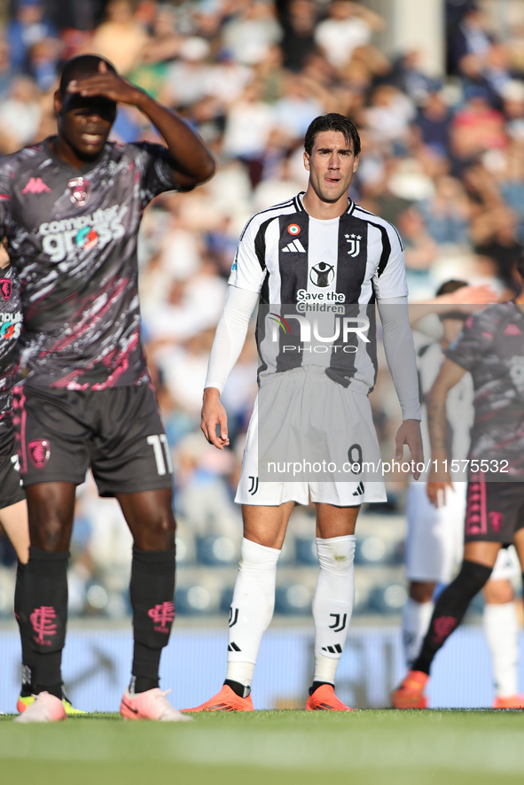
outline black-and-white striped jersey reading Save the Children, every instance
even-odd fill
[[[354,202],[320,221],[303,194],[263,210],[240,237],[229,283],[260,292],[259,381],[305,364],[370,392],[377,371],[375,299],[406,297],[395,227]]]

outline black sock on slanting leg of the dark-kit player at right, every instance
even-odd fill
[[[462,619],[473,597],[487,583],[492,568],[477,562],[464,561],[458,576],[439,596],[426,638],[411,670],[429,673],[434,656]]]

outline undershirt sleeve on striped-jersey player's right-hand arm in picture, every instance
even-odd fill
[[[384,351],[403,420],[420,420],[417,356],[408,312],[408,298],[378,299]]]

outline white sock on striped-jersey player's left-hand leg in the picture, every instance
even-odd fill
[[[275,607],[278,548],[242,540],[242,556],[230,610],[226,679],[251,687],[262,635]],[[249,695],[249,692],[247,692]]]

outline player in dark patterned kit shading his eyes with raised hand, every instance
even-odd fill
[[[117,102],[135,105],[168,149],[107,142]],[[140,339],[137,233],[162,191],[191,190],[215,162],[175,113],[106,61],[66,63],[59,134],[0,163],[0,211],[20,276],[20,472],[31,548],[23,605],[35,653],[35,702],[20,722],[65,719],[60,663],[75,487],[90,467],[134,538],[129,719],[182,719],[159,688],[174,618],[175,520],[167,439]]]

